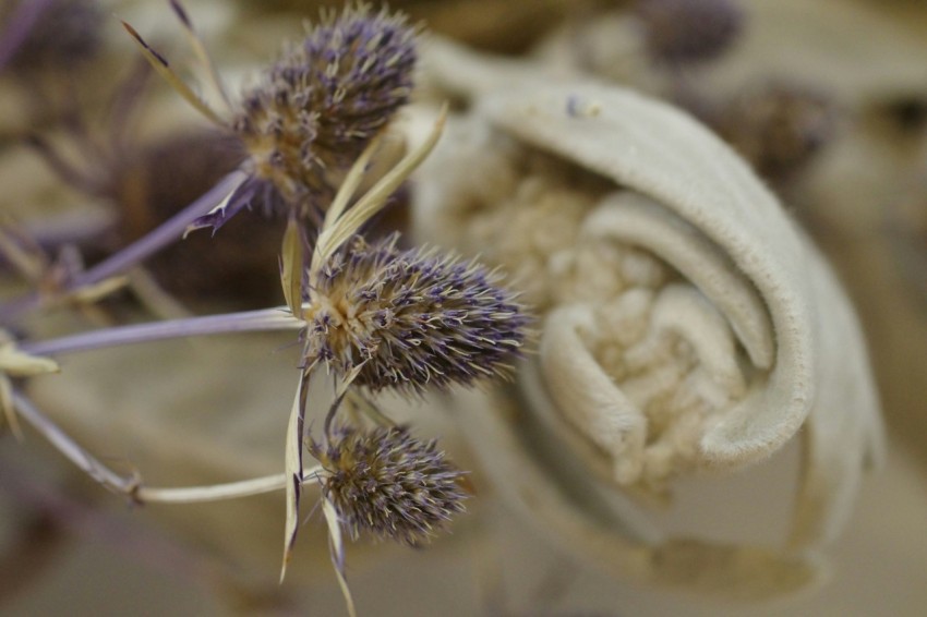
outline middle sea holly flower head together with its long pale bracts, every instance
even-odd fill
[[[305,269],[299,267],[302,243],[293,238],[292,226],[285,235],[284,292],[290,312],[306,327],[285,447],[288,480],[281,579],[299,529],[300,494],[306,481],[303,414],[310,379],[321,363],[337,377],[335,400],[325,420],[325,438],[330,440],[334,418],[352,385],[407,392],[420,392],[429,384],[470,385],[481,376],[506,374],[506,363],[523,343],[523,308],[515,294],[497,285],[497,275],[473,263],[442,258],[434,251],[399,251],[395,238],[373,246],[358,238],[363,225],[434,148],[445,118],[446,109],[421,144],[354,199],[376,144],[364,149],[325,211]],[[413,348],[419,347],[417,353]],[[350,605],[338,512],[328,500],[323,512],[329,522],[335,569]]]

